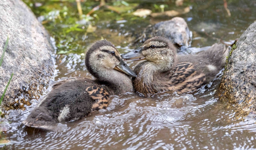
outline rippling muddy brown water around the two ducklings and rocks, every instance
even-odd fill
[[[169,2],[159,2],[159,4],[165,3],[169,4]],[[219,39],[229,41],[239,38],[256,20],[256,2],[250,0],[228,1],[231,17],[227,17],[222,0],[194,1],[186,4],[193,6],[193,9],[180,17],[187,20],[193,32],[192,46],[195,47],[210,46]],[[150,2],[140,5],[145,8],[151,7]],[[198,11],[199,8],[202,10]],[[172,6],[170,5],[168,9],[171,10]],[[123,23],[124,27],[118,27],[116,31],[113,28],[120,26],[120,23],[104,19],[96,23],[98,26],[96,35],[88,35],[82,47],[86,48],[89,41],[99,38],[97,35],[104,32],[106,39],[113,41],[120,53],[124,53],[132,48],[132,45],[126,47],[127,43],[124,41],[128,39],[124,34],[132,33],[132,30],[140,30],[146,24],[167,19],[170,18],[145,18],[144,22],[138,21],[136,25],[128,21]],[[202,32],[203,28],[211,36]],[[121,34],[118,36],[119,33]],[[56,45],[60,43],[57,40],[56,42]],[[60,48],[57,47],[56,52],[59,51]],[[50,86],[69,77],[92,77],[85,68],[84,55],[81,55],[81,51],[83,50],[78,49],[68,54],[52,55],[56,62],[56,70]],[[134,62],[128,63],[131,67],[134,64]],[[190,94],[164,92],[155,94],[153,98],[144,98],[135,92],[128,92],[111,96],[106,110],[93,112],[75,122],[59,123],[57,132],[27,128],[21,124],[29,112],[44,98],[45,92],[39,101],[27,106],[27,110],[12,111],[9,116],[2,119],[0,124],[2,138],[9,140],[10,143],[1,147],[3,149],[254,149],[256,148],[255,119],[237,117],[232,107],[227,107],[214,95],[221,76],[220,71],[212,83]],[[51,91],[51,87],[47,91]]]

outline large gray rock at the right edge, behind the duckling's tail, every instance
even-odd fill
[[[238,114],[256,113],[256,22],[248,27],[236,43],[218,95],[221,101],[234,106]]]

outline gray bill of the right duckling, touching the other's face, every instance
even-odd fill
[[[123,54],[121,57],[130,61],[146,60],[146,57],[142,54],[142,49],[143,48],[135,49],[131,52]]]

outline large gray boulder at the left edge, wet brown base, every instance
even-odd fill
[[[4,0],[0,10],[0,55],[10,35],[0,67],[0,95],[14,73],[1,105],[6,112],[24,109],[31,99],[38,99],[49,84],[54,64],[49,35],[26,4],[20,0]]]

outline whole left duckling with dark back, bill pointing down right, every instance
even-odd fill
[[[96,41],[85,56],[87,70],[96,78],[73,77],[52,86],[22,123],[26,126],[52,130],[54,124],[77,120],[92,111],[106,109],[109,95],[133,91],[136,74],[123,62],[111,42]]]

